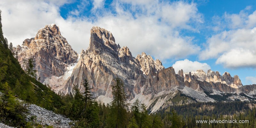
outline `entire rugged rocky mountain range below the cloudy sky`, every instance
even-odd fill
[[[89,47],[80,54],[55,24],[39,29],[35,37],[25,39],[14,52],[23,69],[23,60],[33,58],[37,79],[56,93],[72,92],[73,84],[83,92],[80,84],[86,78],[93,96],[105,104],[111,101],[111,85],[117,76],[124,81],[129,102],[139,99],[150,112],[173,104],[256,100],[256,84],[243,85],[237,75],[220,75],[212,70],[205,73],[201,69],[188,73],[180,69],[176,74],[174,68],[164,68],[160,60],[145,52],[133,57],[128,47],[116,44],[111,32],[96,26],[91,29]]]

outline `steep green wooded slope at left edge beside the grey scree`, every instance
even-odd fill
[[[12,43],[8,47],[0,22],[0,92],[4,93],[0,99],[0,122],[14,127],[30,127],[24,121],[25,108],[15,100],[14,95],[20,100],[54,111],[63,106],[63,103],[59,95],[36,81],[33,60],[28,60],[27,68],[30,69],[26,71],[27,74],[24,72],[17,58],[13,56],[12,48]]]

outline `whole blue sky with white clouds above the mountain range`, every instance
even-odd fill
[[[4,36],[14,45],[55,23],[80,53],[92,26],[100,26],[134,57],[146,52],[176,72],[227,71],[244,85],[256,83],[254,0],[32,0],[1,2],[0,9]]]

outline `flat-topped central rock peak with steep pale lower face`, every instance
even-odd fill
[[[111,97],[111,85],[118,76],[125,80],[125,91],[132,98],[134,81],[140,74],[143,72],[129,48],[116,45],[115,38],[109,31],[93,27],[89,48],[82,52],[70,79],[59,91],[69,93],[73,84],[80,84],[87,78],[94,96]],[[83,90],[82,87],[79,88]]]

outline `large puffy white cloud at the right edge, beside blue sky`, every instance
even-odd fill
[[[256,67],[256,11],[248,14],[225,14],[230,30],[213,35],[206,41],[200,60],[217,59],[216,64],[227,68]]]

